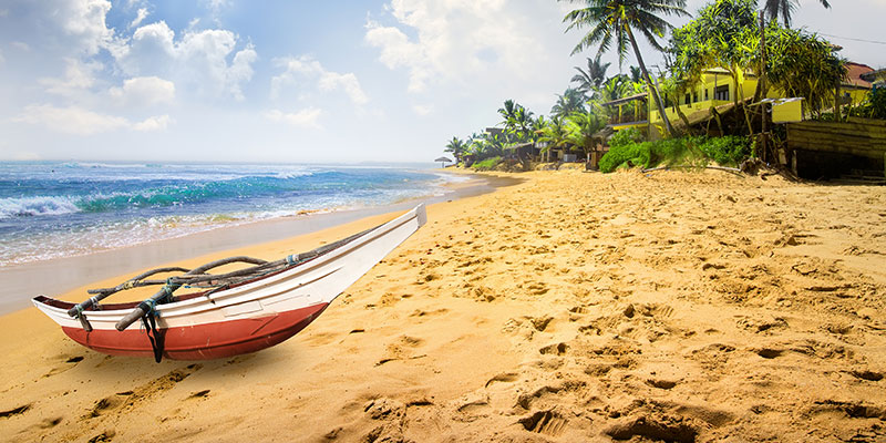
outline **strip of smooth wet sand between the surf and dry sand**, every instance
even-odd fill
[[[452,175],[465,176],[465,174]],[[126,274],[134,275],[161,264],[303,236],[362,218],[405,210],[419,203],[432,205],[482,195],[518,181],[477,174],[467,175],[470,178],[464,183],[444,185],[443,187],[451,192],[442,196],[426,196],[360,209],[256,220],[123,248],[0,267],[0,280],[4,281],[0,287],[0,316],[28,309],[31,307],[31,298],[38,295],[58,297],[99,280]],[[84,291],[83,299],[85,298]]]

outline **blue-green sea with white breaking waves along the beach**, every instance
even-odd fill
[[[0,162],[0,267],[441,196],[464,179],[433,167]]]

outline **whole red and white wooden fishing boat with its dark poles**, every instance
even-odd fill
[[[230,257],[194,269],[158,268],[114,288],[91,289],[95,296],[81,303],[45,296],[33,302],[68,337],[112,356],[153,356],[159,362],[255,352],[305,329],[425,222],[419,205],[372,229],[276,261]],[[209,274],[233,262],[253,266]],[[177,275],[156,278],[171,272]],[[162,289],[144,301],[101,303],[112,293],[150,285]],[[179,288],[199,290],[174,295]]]

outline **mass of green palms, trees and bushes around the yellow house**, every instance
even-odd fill
[[[563,21],[568,23],[567,31],[588,29],[573,54],[594,47],[597,50],[596,58],[587,59],[587,68],[575,68],[578,73],[571,78],[570,85],[563,94],[555,94],[549,119],[534,114],[514,100],[506,100],[498,109],[502,121],[497,127],[474,133],[465,140],[453,137],[445,151],[452,153],[459,164],[486,171],[501,167],[502,163],[514,167],[519,162],[527,169],[529,161],[539,151],[542,158],[552,150],[563,154],[590,154],[601,142],[600,130],[606,127],[611,117],[620,115],[619,106],[601,104],[648,93],[651,105],[658,107],[671,138],[646,142],[637,130],[620,131],[608,142],[610,151],[600,161],[601,171],[611,172],[626,165],[651,167],[681,162],[690,165],[715,162],[734,166],[749,155],[754,155],[748,138],[730,135],[677,137],[667,120],[662,97],[674,105],[678,116],[689,127],[689,120],[678,103],[688,91],[698,86],[707,70],[722,68],[729,71],[733,91],[740,90],[739,80],[744,74],[750,72],[760,76],[765,71],[766,81],[758,82],[754,101],[765,96],[766,87],[779,87],[789,96],[805,97],[808,107],[821,116],[833,102],[833,86],[845,76],[844,61],[827,41],[806,31],[787,28],[791,12],[797,7],[796,0],[760,2],[770,14],[770,21],[763,23],[762,32],[756,11],[758,0],[713,0],[701,8],[692,21],[672,30],[667,49],[658,39],[672,27],[662,17],[689,16],[684,10],[686,0],[558,1],[583,4],[566,14]],[[818,1],[830,7],[827,0]],[[784,27],[777,23],[779,18],[784,20]],[[652,81],[637,47],[635,32],[642,34],[655,49],[666,52],[667,75],[660,74],[657,81]],[[765,65],[760,50],[761,33],[765,37],[767,48]],[[609,63],[602,63],[600,55],[614,49],[619,62],[622,62],[629,45],[639,68],[630,66],[629,75],[619,73],[607,78]],[[724,130],[717,114],[721,133],[746,134],[751,131],[750,112],[745,113],[745,104],[738,102],[738,96],[749,94],[739,92],[730,95],[734,99],[735,116],[741,120],[733,120],[732,125]],[[867,102],[849,113],[883,117],[886,114],[885,102],[886,92],[875,91]],[[637,105],[645,104],[635,102]],[[633,112],[641,114],[637,109]],[[547,155],[547,158],[550,159],[550,156]]]

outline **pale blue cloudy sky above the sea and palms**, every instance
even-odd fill
[[[858,41],[886,41],[886,0],[799,3],[793,27],[886,68],[886,44]],[[0,0],[0,159],[430,162],[497,124],[505,100],[548,114],[596,55],[570,55],[581,33],[562,20],[577,7]]]

